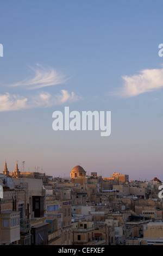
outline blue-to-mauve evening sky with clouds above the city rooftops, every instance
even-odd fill
[[[0,173],[163,181],[162,0],[1,0]],[[162,51],[163,52],[163,51]],[[2,54],[0,54],[2,55]],[[53,112],[111,111],[111,134]],[[24,163],[24,168],[23,164]]]

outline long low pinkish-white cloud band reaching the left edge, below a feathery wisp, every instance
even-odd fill
[[[51,107],[65,102],[74,102],[82,99],[81,96],[61,90],[60,94],[52,95],[48,92],[40,92],[32,96],[20,96],[14,94],[0,94],[0,112],[18,111],[37,107]]]

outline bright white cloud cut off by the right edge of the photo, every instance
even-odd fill
[[[122,76],[123,87],[112,95],[133,97],[142,93],[153,92],[163,87],[163,68],[145,69],[140,74]]]

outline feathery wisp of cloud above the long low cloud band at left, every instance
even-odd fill
[[[42,66],[36,64],[35,68],[29,67],[34,71],[33,77],[28,77],[20,82],[9,84],[10,87],[26,87],[27,89],[40,89],[47,86],[55,86],[57,84],[65,83],[69,78],[61,72],[56,71],[50,66]]]

